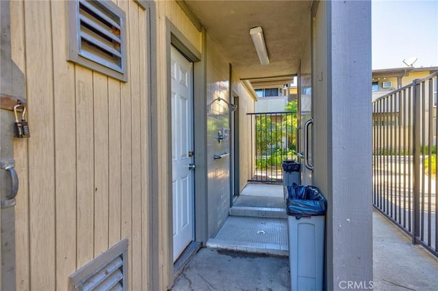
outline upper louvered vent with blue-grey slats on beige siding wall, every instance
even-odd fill
[[[125,12],[111,1],[68,1],[68,60],[127,81]]]

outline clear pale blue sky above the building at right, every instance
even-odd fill
[[[372,69],[438,66],[438,0],[372,0]]]

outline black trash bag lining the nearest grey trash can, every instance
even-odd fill
[[[298,219],[298,217],[325,215],[326,210],[327,200],[318,187],[295,183],[287,186],[287,215]]]

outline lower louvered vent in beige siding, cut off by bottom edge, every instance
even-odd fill
[[[70,291],[127,290],[128,240],[111,249],[70,275]]]

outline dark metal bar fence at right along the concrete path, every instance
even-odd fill
[[[373,204],[438,256],[438,72],[374,100]]]

